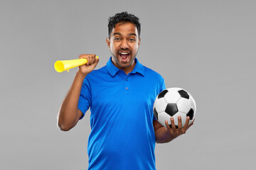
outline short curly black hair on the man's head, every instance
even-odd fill
[[[127,11],[124,11],[122,13],[117,13],[114,16],[110,16],[108,24],[109,37],[117,23],[133,23],[137,27],[138,34],[140,35],[141,24],[139,23],[139,18],[134,16],[132,13],[127,13]]]

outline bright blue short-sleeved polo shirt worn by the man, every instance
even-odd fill
[[[135,59],[125,74],[112,64],[85,77],[78,109],[90,108],[88,169],[156,169],[153,105],[164,79]]]

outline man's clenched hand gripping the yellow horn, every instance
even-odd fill
[[[98,57],[96,57],[95,54],[92,55],[80,55],[80,59],[87,59],[87,63],[83,64],[79,67],[78,72],[80,72],[83,75],[87,75],[90,72],[92,72],[93,69],[97,66],[97,63],[100,61]]]

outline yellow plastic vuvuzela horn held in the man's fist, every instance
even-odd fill
[[[97,56],[96,56],[97,57]],[[99,58],[99,57],[97,57]],[[69,69],[73,69],[75,67],[78,67],[82,64],[86,64],[86,59],[75,59],[75,60],[58,60],[54,63],[54,68],[56,72],[63,72],[67,70],[69,72]]]

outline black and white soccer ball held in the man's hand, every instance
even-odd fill
[[[181,116],[182,127],[189,116],[189,125],[193,122],[196,115],[196,102],[188,91],[175,87],[165,89],[156,97],[154,101],[154,116],[156,120],[165,125],[165,120],[171,127],[171,117],[174,118],[176,128],[178,128],[178,116]]]

